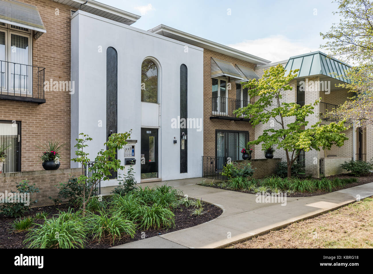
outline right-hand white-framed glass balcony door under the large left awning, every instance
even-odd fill
[[[31,73],[29,64],[28,37],[10,35],[10,75],[9,89],[19,93],[31,93]]]

